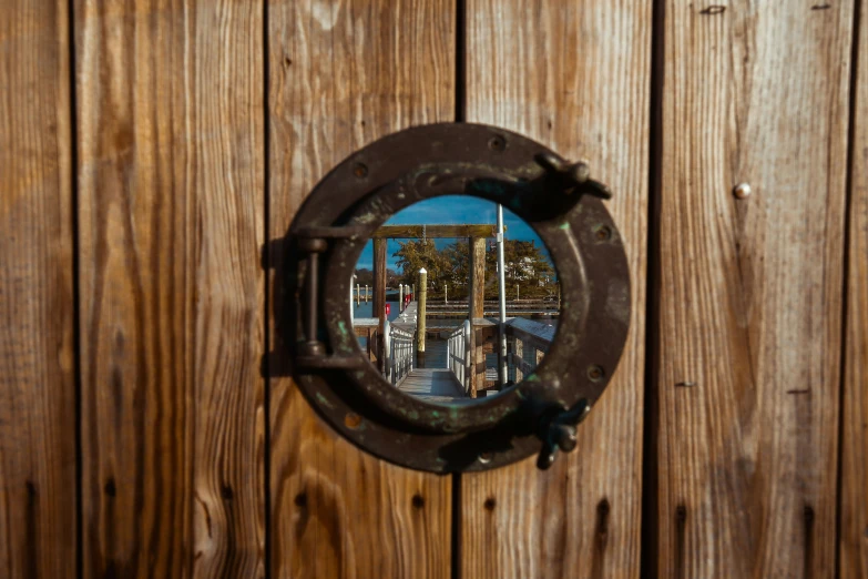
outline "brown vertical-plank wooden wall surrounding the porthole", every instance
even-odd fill
[[[0,577],[868,579],[865,4],[0,3]],[[385,464],[267,355],[307,192],[455,120],[615,193],[631,334],[547,473]]]

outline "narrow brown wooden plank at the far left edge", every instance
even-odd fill
[[[68,2],[0,2],[0,576],[75,569]]]

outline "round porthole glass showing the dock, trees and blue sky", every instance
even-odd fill
[[[349,298],[371,364],[396,388],[445,404],[521,382],[542,360],[560,312],[558,274],[539,235],[510,211],[464,195],[392,215],[365,246]]]

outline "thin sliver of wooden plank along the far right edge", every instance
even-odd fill
[[[868,579],[868,4],[857,27],[850,111],[849,274],[841,407],[840,579]]]

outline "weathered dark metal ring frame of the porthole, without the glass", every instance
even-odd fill
[[[492,139],[504,146],[492,149]],[[304,335],[298,299],[288,308],[295,315],[278,329],[288,331],[283,343],[295,356],[294,375],[306,398],[354,444],[421,470],[494,468],[539,451],[539,416],[581,399],[593,405],[602,394],[629,328],[626,255],[603,203],[593,195],[568,199],[554,191],[537,161],[540,155],[556,158],[539,143],[492,126],[408,129],[350,155],[299,210],[287,233],[289,253],[298,261],[284,272],[287,291],[278,295],[292,299],[302,293],[310,272],[299,250],[310,245],[312,232],[331,235],[317,272],[324,280],[318,327],[325,328],[317,338],[328,344],[330,359],[318,364],[308,356],[299,363],[302,348],[294,347],[304,342],[296,337]],[[524,219],[548,246],[562,286],[559,329],[537,370],[494,398],[448,406],[397,390],[367,363],[348,305],[356,262],[377,227],[408,205],[447,194],[502,203]],[[360,420],[346,420],[348,415]]]

